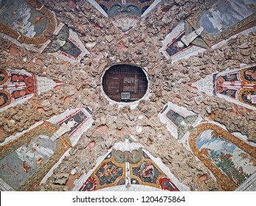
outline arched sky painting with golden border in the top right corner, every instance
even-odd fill
[[[203,27],[201,38],[208,46],[256,25],[255,0],[208,1],[209,10],[198,10],[186,21],[194,29]],[[241,12],[243,11],[243,12]]]

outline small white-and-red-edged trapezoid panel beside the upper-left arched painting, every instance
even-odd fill
[[[83,46],[76,32],[63,26],[58,36],[49,43],[44,52],[54,54],[69,62],[79,62],[89,51]]]

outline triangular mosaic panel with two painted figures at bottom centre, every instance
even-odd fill
[[[89,174],[78,180],[75,191],[95,191],[114,186],[132,188],[133,185],[145,185],[166,191],[179,191],[179,187],[187,190],[170,176],[167,176],[159,163],[156,163],[156,159],[142,149],[141,145],[128,143],[126,139],[124,143],[116,143]]]

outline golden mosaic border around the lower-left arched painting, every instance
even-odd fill
[[[44,121],[42,124],[38,125],[34,129],[24,133],[19,138],[11,141],[4,146],[0,147],[0,158],[7,156],[8,154],[18,149],[20,146],[29,143],[32,138],[35,138],[37,135],[49,135],[52,136],[55,131],[57,131],[58,126],[55,124],[51,124],[47,121]],[[49,160],[44,163],[44,166],[38,168],[34,174],[26,181],[23,185],[21,185],[17,191],[33,191],[35,187],[41,182],[44,176],[47,174],[50,168],[58,162],[60,157],[66,152],[67,149],[72,147],[69,138],[67,135],[61,136],[56,141],[56,149],[54,154],[49,158]]]

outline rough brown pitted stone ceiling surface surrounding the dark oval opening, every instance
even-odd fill
[[[153,157],[159,157],[190,191],[224,190],[207,166],[168,132],[158,114],[166,102],[172,102],[201,116],[203,121],[211,118],[229,132],[240,132],[248,141],[255,142],[255,110],[198,92],[191,84],[227,68],[232,71],[255,64],[256,33],[252,30],[237,35],[214,48],[171,63],[159,52],[162,40],[185,17],[200,8],[208,10],[207,1],[161,1],[128,32],[113,26],[111,19],[88,1],[42,2],[59,22],[77,33],[90,54],[81,61],[69,62],[46,52],[28,50],[13,38],[1,35],[1,68],[25,69],[30,74],[58,79],[63,85],[1,111],[0,141],[70,108],[90,107],[94,122],[35,190],[72,191],[75,180],[88,174],[97,158],[127,135],[145,146],[145,151]],[[109,104],[100,88],[103,71],[117,63],[137,65],[147,71],[151,96],[133,110]]]

